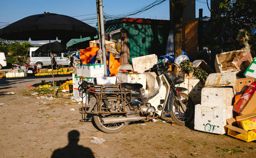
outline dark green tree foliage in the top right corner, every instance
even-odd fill
[[[216,24],[219,25],[219,28],[221,27],[221,37],[219,36],[221,43],[219,44],[223,51],[244,47],[240,42],[245,36],[244,33],[241,33],[242,29],[249,37],[248,43],[251,50],[255,51],[255,34],[252,33],[252,30],[255,29],[255,8],[255,0],[223,0],[220,3],[218,11],[221,17]]]

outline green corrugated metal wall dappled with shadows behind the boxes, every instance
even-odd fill
[[[120,28],[128,32],[130,48],[130,62],[132,58],[156,54],[158,57],[165,55],[166,42],[168,38],[168,25],[126,23],[106,24],[105,33]]]

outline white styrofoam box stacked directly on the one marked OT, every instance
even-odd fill
[[[204,87],[201,93],[202,106],[229,107],[232,105],[233,89],[228,87]]]

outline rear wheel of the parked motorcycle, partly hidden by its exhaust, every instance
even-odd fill
[[[110,104],[115,103],[115,101],[116,100],[114,100],[114,99],[109,100]],[[94,115],[93,121],[94,121],[95,125],[101,131],[108,133],[108,134],[118,133],[119,131],[123,130],[129,124],[129,122],[103,124],[101,118],[106,118],[106,117],[117,117],[117,116],[111,115],[111,114]]]

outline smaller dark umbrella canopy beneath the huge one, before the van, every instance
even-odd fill
[[[67,52],[68,50],[73,50],[72,48],[67,48],[66,44],[59,43],[58,41],[51,42],[50,43],[44,44],[40,46],[38,49],[35,50],[35,52]]]

